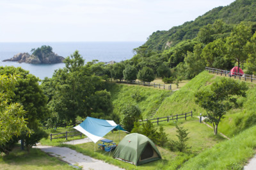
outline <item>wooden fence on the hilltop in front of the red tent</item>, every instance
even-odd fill
[[[230,72],[230,71],[227,71],[227,70],[221,70],[221,69],[217,69],[217,68],[210,68],[210,67],[205,67],[205,70],[209,71],[209,73],[217,73],[220,74],[220,75],[225,75],[225,77],[234,77],[236,79],[236,77],[239,77],[239,79],[244,79],[244,81],[247,81],[247,80],[250,80],[251,82],[252,81],[255,81],[256,80],[256,77],[255,75],[249,75],[249,74],[243,74],[243,73],[237,73],[237,72]],[[234,75],[232,75],[232,73],[234,73]]]

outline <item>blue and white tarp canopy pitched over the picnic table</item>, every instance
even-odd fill
[[[108,134],[108,132],[114,128],[117,130],[124,130],[120,125],[116,125],[113,120],[100,120],[91,117],[87,117],[82,123],[74,128],[89,137],[93,143],[97,143],[100,138]]]

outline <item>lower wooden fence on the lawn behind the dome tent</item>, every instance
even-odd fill
[[[166,116],[166,117],[163,117],[163,118],[155,118],[155,119],[150,119],[150,120],[140,120],[140,122],[143,122],[143,121],[151,121],[151,120],[157,120],[157,121],[152,121],[151,123],[157,123],[157,125],[159,125],[159,122],[161,121],[167,121],[169,122],[170,120],[177,120],[178,119],[182,119],[182,118],[185,118],[185,120],[187,120],[188,117],[192,118],[193,116],[193,112],[186,112],[184,114],[176,114],[176,115],[172,115],[172,116]],[[142,125],[142,124],[140,124]]]

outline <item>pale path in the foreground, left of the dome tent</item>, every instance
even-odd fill
[[[54,157],[60,158],[61,160],[71,164],[73,166],[83,167],[82,169],[121,169],[117,166],[113,166],[102,160],[97,160],[95,158],[83,155],[75,150],[71,150],[66,147],[54,147],[54,146],[36,146],[40,150],[52,155]]]

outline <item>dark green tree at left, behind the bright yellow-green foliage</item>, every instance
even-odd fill
[[[45,97],[40,88],[39,79],[35,75],[29,74],[28,71],[22,68],[15,68],[13,66],[0,67],[0,74],[14,74],[19,73],[20,79],[17,79],[17,86],[13,90],[15,95],[12,96],[12,102],[22,104],[24,110],[27,112],[24,118],[28,121],[28,128],[33,130],[33,134],[22,134],[17,137],[18,141],[24,141],[25,146],[29,147],[35,145],[43,137],[47,137],[47,133],[40,129],[40,122],[44,121],[49,115],[47,109],[47,97]]]

